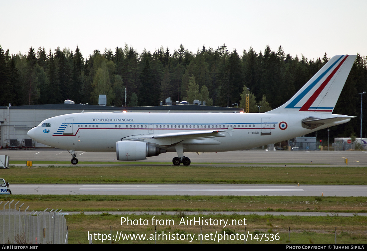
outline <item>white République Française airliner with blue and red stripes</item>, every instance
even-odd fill
[[[52,117],[28,136],[55,148],[116,152],[117,160],[145,160],[176,152],[174,165],[190,165],[187,152],[254,148],[348,122],[333,114],[355,55],[330,59],[288,102],[266,113],[81,112]]]

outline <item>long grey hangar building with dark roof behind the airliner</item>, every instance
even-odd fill
[[[241,112],[241,108],[228,108],[204,105],[161,105],[145,107],[115,107],[82,104],[51,104],[51,105],[23,105],[0,106],[0,148],[49,147],[33,142],[27,132],[36,127],[41,121],[51,117],[82,112]]]

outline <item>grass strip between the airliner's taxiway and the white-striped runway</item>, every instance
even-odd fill
[[[12,167],[9,183],[227,183],[367,185],[367,167],[213,167],[49,165]]]

